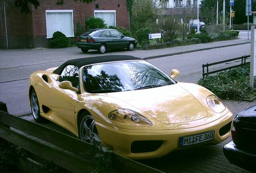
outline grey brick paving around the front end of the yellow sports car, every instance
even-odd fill
[[[237,115],[256,105],[256,101],[223,101]],[[175,151],[161,158],[140,160],[141,163],[166,173],[249,173],[226,159],[223,146],[231,141],[231,136],[217,145],[203,145],[196,148]]]

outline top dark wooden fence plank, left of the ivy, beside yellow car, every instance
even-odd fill
[[[10,115],[2,111],[0,111],[0,123],[28,133],[34,137],[43,139],[44,141],[52,143],[77,155],[81,155],[85,158],[94,159],[96,153],[100,152],[97,147],[90,143],[86,143],[77,138],[70,137],[40,124],[24,120],[20,117]]]

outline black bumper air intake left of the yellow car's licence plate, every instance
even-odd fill
[[[131,145],[131,152],[147,153],[156,151],[162,144],[163,141],[133,141]]]

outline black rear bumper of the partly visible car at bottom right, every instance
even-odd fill
[[[223,153],[230,163],[248,171],[256,171],[256,154],[238,149],[233,141],[223,147]]]

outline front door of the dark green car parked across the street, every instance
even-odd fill
[[[128,41],[120,32],[117,30],[110,30],[110,33],[113,39],[113,48],[126,48],[128,46]]]

